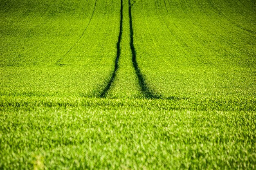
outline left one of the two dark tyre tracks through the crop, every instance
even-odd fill
[[[115,69],[114,72],[112,73],[112,77],[110,78],[107,86],[105,87],[105,89],[103,89],[103,91],[100,94],[100,98],[103,98],[106,96],[108,90],[110,89],[115,76],[117,74],[117,69],[118,69],[118,60],[120,57],[120,53],[121,53],[121,48],[120,48],[120,43],[121,43],[121,39],[122,39],[122,32],[123,32],[123,0],[121,0],[121,9],[120,9],[120,27],[119,27],[119,36],[118,36],[118,41],[117,41],[117,58],[115,60]]]

